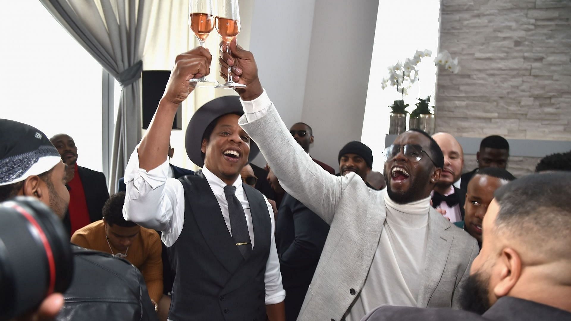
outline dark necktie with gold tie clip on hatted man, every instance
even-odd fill
[[[250,242],[250,233],[248,232],[248,224],[246,223],[246,214],[244,208],[236,197],[236,186],[224,186],[224,195],[228,201],[228,214],[230,214],[230,229],[232,230],[232,239],[238,246],[240,253],[247,259],[252,252]]]

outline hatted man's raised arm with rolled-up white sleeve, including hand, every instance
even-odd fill
[[[183,194],[178,180],[168,178],[168,145],[172,121],[180,103],[194,89],[189,79],[210,73],[212,55],[197,47],[176,57],[167,87],[151,124],[138,148],[131,154],[125,171],[127,185],[123,216],[143,227],[172,234],[167,246],[174,243],[182,229]],[[180,215],[175,215],[175,214]]]

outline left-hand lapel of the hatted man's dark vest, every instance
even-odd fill
[[[234,274],[244,262],[244,258],[238,247],[235,246],[230,232],[228,232],[218,200],[216,200],[208,181],[202,172],[194,177],[184,176],[181,180],[187,183],[183,186],[190,186],[190,190],[184,194],[188,198],[188,203],[192,208],[196,224],[202,232],[204,240],[216,259],[228,272]],[[190,246],[195,246],[195,244],[190,244]]]

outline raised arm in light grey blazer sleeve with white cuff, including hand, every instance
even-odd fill
[[[222,44],[222,49],[224,49]],[[230,44],[232,57],[220,59],[221,70],[232,66],[234,81],[247,85],[236,90],[242,98],[244,116],[240,126],[260,147],[260,151],[279,178],[280,184],[310,210],[331,224],[341,192],[350,179],[329,174],[289,134],[258,78],[258,69],[250,51]],[[353,175],[354,176],[354,175]]]

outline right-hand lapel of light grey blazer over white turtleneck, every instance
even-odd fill
[[[447,232],[449,228],[451,226],[446,224],[442,215],[431,207],[428,214],[427,252],[424,261],[425,278],[420,286],[417,300],[419,307],[427,306],[443,275],[453,240],[453,236]]]

